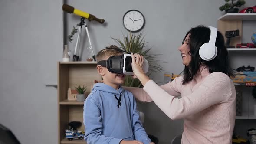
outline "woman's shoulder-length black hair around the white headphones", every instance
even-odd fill
[[[194,78],[194,75],[197,74],[200,66],[202,65],[208,67],[210,73],[223,72],[228,76],[234,76],[233,70],[230,68],[229,65],[228,51],[224,44],[223,35],[219,31],[215,42],[218,53],[217,56],[210,61],[205,61],[199,56],[200,46],[202,46],[204,43],[209,42],[210,28],[205,26],[197,26],[195,28],[191,28],[184,37],[182,44],[184,43],[187,35],[189,34],[190,50],[188,53],[191,55],[191,61],[189,65],[185,66],[184,68],[184,78],[182,81],[183,85],[189,83]]]

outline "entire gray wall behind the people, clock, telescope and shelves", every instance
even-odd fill
[[[256,0],[246,2],[243,7],[256,5]],[[105,19],[104,25],[87,23],[96,52],[115,44],[110,37],[121,38],[122,32],[127,33],[122,26],[122,16],[127,10],[141,11],[146,19],[143,32],[152,47],[150,53],[162,53],[159,59],[167,62],[162,64],[163,72],[151,77],[161,83],[164,72],[177,74],[184,68],[177,48],[188,29],[199,24],[217,26],[218,17],[223,15],[218,7],[224,0],[67,0],[65,3]],[[10,128],[22,144],[57,143],[57,92],[44,85],[56,84],[56,61],[62,59],[62,44],[66,44],[72,26],[80,21],[79,16],[65,13],[63,31],[61,7],[61,0],[0,1],[0,123]],[[244,42],[250,42],[246,34],[256,31],[255,22],[247,25]],[[82,34],[85,35],[85,29]],[[81,55],[85,60],[88,41],[85,36],[82,39]],[[75,40],[69,43],[70,49],[74,47]],[[245,59],[233,53],[233,66],[256,66],[255,53],[244,54]],[[145,113],[146,131],[158,137],[160,144],[168,144],[174,135],[182,133],[183,121],[170,120],[154,103],[139,103],[138,107]]]

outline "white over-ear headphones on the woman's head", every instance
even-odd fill
[[[210,61],[217,56],[218,50],[215,46],[215,41],[218,33],[218,29],[212,26],[210,28],[210,40],[208,43],[204,43],[199,49],[199,56],[206,61]]]

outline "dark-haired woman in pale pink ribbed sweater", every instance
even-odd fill
[[[132,54],[132,68],[144,88],[126,88],[141,101],[154,101],[171,119],[184,118],[182,144],[231,144],[235,124],[236,91],[230,76],[223,35],[217,32],[217,56],[206,61],[200,46],[209,42],[210,29],[197,26],[187,32],[181,47],[184,75],[158,86],[144,74],[143,56]],[[136,56],[136,60],[135,60]],[[175,98],[180,96],[181,98]]]

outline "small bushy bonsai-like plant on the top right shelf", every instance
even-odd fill
[[[231,3],[229,3],[231,1]],[[245,4],[244,0],[225,0],[225,4],[219,7],[220,11],[225,10],[226,13],[238,13],[238,7],[241,7]],[[236,7],[236,8],[234,8]]]

